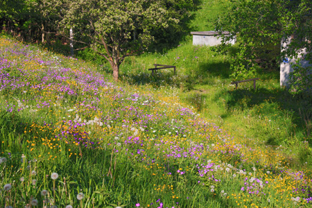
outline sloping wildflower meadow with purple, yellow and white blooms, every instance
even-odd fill
[[[0,207],[311,207],[311,173],[180,102],[0,37]]]

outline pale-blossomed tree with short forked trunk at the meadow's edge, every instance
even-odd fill
[[[169,17],[162,1],[68,1],[60,24],[73,28],[84,42],[112,66],[118,81],[119,67],[125,57],[143,53],[153,41],[152,31],[179,20]],[[85,37],[88,37],[87,41]]]

